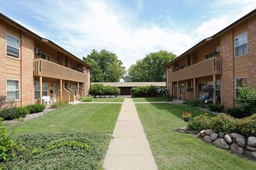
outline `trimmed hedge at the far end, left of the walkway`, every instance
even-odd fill
[[[89,93],[96,97],[106,97],[106,96],[115,96],[120,94],[120,89],[118,87],[110,87],[110,86],[104,86],[102,83],[94,83],[90,87]]]

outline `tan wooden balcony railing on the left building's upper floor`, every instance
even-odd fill
[[[34,76],[46,76],[62,80],[87,82],[85,73],[71,70],[65,66],[52,63],[45,59],[34,59]]]

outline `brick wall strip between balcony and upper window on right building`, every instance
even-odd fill
[[[220,56],[222,58],[221,104],[224,107],[234,106],[234,42],[233,31],[220,37]]]

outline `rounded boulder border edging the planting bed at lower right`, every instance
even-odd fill
[[[212,129],[202,130],[198,138],[215,145],[218,148],[230,150],[237,155],[244,155],[247,158],[256,160],[256,137],[245,138],[237,133],[219,132],[216,134]]]

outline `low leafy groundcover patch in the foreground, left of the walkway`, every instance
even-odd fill
[[[100,169],[111,135],[99,131],[24,134],[26,148],[3,169]]]

